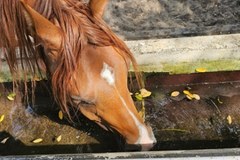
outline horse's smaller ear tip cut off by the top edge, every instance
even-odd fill
[[[102,17],[108,0],[90,0],[89,5],[93,16]]]

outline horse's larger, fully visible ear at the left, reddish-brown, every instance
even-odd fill
[[[62,43],[61,29],[32,9],[24,0],[21,0],[21,4],[31,34],[36,35],[45,47],[58,50]]]

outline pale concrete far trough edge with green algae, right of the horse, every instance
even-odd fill
[[[240,69],[240,34],[126,41],[145,72]]]

